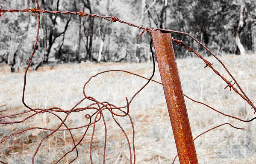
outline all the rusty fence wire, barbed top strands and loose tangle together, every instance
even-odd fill
[[[53,116],[56,116],[59,120],[60,120],[60,124],[59,126],[56,128],[56,129],[49,129],[49,128],[43,128],[43,127],[31,127],[31,128],[27,128],[25,130],[20,130],[16,133],[13,133],[12,135],[10,136],[7,136],[5,138],[3,138],[1,141],[0,141],[0,144],[2,144],[4,141],[12,138],[13,136],[16,136],[16,135],[20,135],[21,133],[24,133],[28,130],[33,130],[33,129],[41,129],[41,130],[47,130],[47,131],[50,131],[50,133],[46,136],[43,137],[43,139],[41,139],[40,143],[38,144],[38,147],[36,148],[35,150],[35,153],[33,154],[32,156],[32,163],[34,164],[35,162],[35,156],[36,154],[38,153],[38,150],[39,148],[41,147],[41,144],[43,143],[43,141],[53,135],[56,131],[68,131],[70,133],[70,136],[71,136],[71,139],[72,139],[72,142],[74,144],[74,147],[66,152],[65,154],[62,155],[62,157],[59,158],[58,161],[56,161],[56,163],[59,163],[65,156],[68,155],[68,153],[71,153],[72,151],[76,150],[76,153],[77,153],[77,156],[72,159],[69,163],[72,163],[73,161],[75,161],[77,158],[78,158],[78,155],[79,155],[79,152],[77,150],[77,146],[82,142],[82,140],[84,139],[87,131],[88,131],[88,128],[90,126],[93,126],[93,131],[92,131],[92,134],[91,134],[91,141],[90,141],[90,161],[91,163],[93,163],[93,159],[92,159],[92,144],[93,144],[93,139],[94,139],[94,132],[95,132],[95,126],[96,126],[96,123],[99,122],[101,119],[103,120],[103,123],[104,123],[104,127],[105,127],[105,139],[104,139],[104,151],[103,151],[103,164],[105,163],[105,156],[106,156],[106,141],[107,141],[107,128],[106,128],[106,121],[104,119],[104,110],[106,111],[109,111],[112,115],[112,118],[113,120],[118,124],[118,126],[120,127],[120,129],[122,130],[122,132],[124,133],[126,139],[127,139],[127,143],[128,143],[128,146],[129,146],[129,156],[130,156],[130,163],[134,163],[135,164],[135,145],[134,145],[134,136],[135,136],[135,129],[134,129],[134,125],[133,125],[133,122],[132,122],[132,118],[131,116],[129,115],[129,105],[131,104],[132,100],[135,98],[135,96],[141,91],[143,90],[147,84],[152,81],[152,82],[156,82],[156,83],[159,83],[162,85],[161,82],[157,82],[155,80],[152,79],[152,77],[154,76],[154,72],[155,72],[155,62],[154,62],[154,55],[153,55],[153,50],[152,50],[152,40],[150,42],[150,50],[151,50],[151,54],[152,54],[152,57],[153,57],[153,73],[152,75],[150,76],[150,78],[146,78],[144,76],[141,76],[141,75],[138,75],[138,74],[134,74],[132,72],[129,72],[129,71],[125,71],[125,70],[109,70],[109,71],[103,71],[103,72],[100,72],[98,74],[95,74],[94,76],[91,76],[87,82],[85,82],[84,86],[83,86],[83,95],[84,95],[84,98],[82,98],[76,105],[74,105],[70,110],[63,110],[59,107],[51,107],[51,108],[48,108],[48,109],[40,109],[40,108],[35,108],[33,109],[32,107],[29,107],[28,105],[26,105],[26,102],[24,101],[24,95],[25,95],[25,89],[26,89],[26,75],[27,75],[27,71],[29,69],[29,66],[31,64],[31,61],[32,61],[32,58],[33,58],[33,55],[35,53],[35,49],[36,49],[36,45],[37,45],[37,42],[38,42],[38,35],[39,35],[39,30],[40,30],[40,13],[51,13],[51,14],[75,14],[75,15],[78,15],[80,17],[85,17],[86,19],[86,16],[90,16],[90,17],[97,17],[97,18],[103,18],[105,20],[108,20],[110,21],[111,23],[112,22],[120,22],[120,23],[124,23],[124,24],[127,24],[127,25],[130,25],[130,26],[133,26],[133,27],[137,27],[139,29],[142,29],[143,31],[141,32],[141,34],[138,36],[141,37],[142,34],[147,31],[148,34],[151,34],[153,31],[155,30],[160,30],[160,31],[166,31],[166,32],[173,32],[173,33],[179,33],[179,34],[185,34],[185,35],[188,35],[189,37],[191,37],[193,40],[195,40],[198,44],[200,44],[203,48],[205,48],[210,54],[212,54],[212,56],[214,56],[222,65],[223,67],[225,68],[225,70],[227,71],[227,73],[230,75],[230,77],[232,78],[232,80],[234,80],[234,83],[232,84],[231,82],[232,81],[228,81],[224,76],[222,76],[217,70],[215,70],[215,68],[213,68],[213,63],[207,61],[206,59],[204,59],[200,54],[198,54],[197,52],[195,52],[192,48],[188,47],[187,45],[185,45],[185,43],[181,40],[177,40],[177,39],[174,39],[174,38],[171,38],[173,42],[175,42],[177,45],[181,45],[181,46],[185,46],[186,48],[188,48],[188,50],[190,50],[191,52],[193,52],[197,57],[199,57],[200,59],[203,59],[203,62],[205,62],[206,67],[209,67],[211,68],[215,74],[217,74],[218,76],[221,77],[221,79],[224,80],[224,82],[227,83],[227,87],[230,87],[230,91],[231,90],[234,90],[236,93],[238,93],[239,96],[241,96],[242,99],[244,99],[250,106],[252,106],[252,109],[254,109],[254,111],[256,112],[256,107],[253,105],[253,103],[251,102],[251,100],[247,97],[247,95],[244,93],[244,91],[241,89],[240,85],[238,84],[238,82],[235,80],[235,78],[232,76],[232,74],[230,73],[230,71],[227,69],[227,67],[224,65],[224,63],[218,59],[218,57],[215,56],[215,54],[212,53],[212,51],[210,51],[208,48],[206,48],[205,45],[203,45],[201,42],[199,42],[197,39],[195,39],[193,36],[191,36],[190,34],[188,33],[185,33],[185,32],[180,32],[180,31],[173,31],[173,30],[166,30],[166,29],[161,29],[161,28],[156,28],[156,29],[153,29],[153,28],[144,28],[142,26],[139,26],[139,25],[135,25],[135,24],[132,24],[132,23],[128,23],[128,22],[125,22],[123,20],[120,20],[119,18],[117,17],[106,17],[106,16],[100,16],[100,15],[97,15],[97,14],[87,14],[87,13],[84,13],[83,11],[79,11],[79,12],[71,12],[71,11],[47,11],[47,10],[40,10],[39,9],[39,4],[38,4],[38,0],[36,0],[36,4],[37,4],[37,8],[32,8],[32,9],[23,9],[23,10],[18,10],[18,9],[11,9],[11,10],[3,10],[2,9],[2,5],[0,5],[0,16],[1,16],[1,13],[2,12],[29,12],[31,13],[31,15],[33,16],[33,14],[37,13],[38,14],[38,28],[37,28],[37,34],[36,34],[36,39],[35,39],[35,44],[34,44],[34,47],[33,47],[33,51],[32,51],[32,54],[31,54],[31,57],[29,59],[29,62],[28,62],[28,65],[26,67],[26,70],[25,70],[25,73],[24,73],[24,87],[23,87],[23,93],[22,93],[22,102],[24,104],[25,107],[27,107],[29,110],[25,111],[25,112],[21,112],[21,113],[15,113],[15,114],[10,114],[10,115],[7,115],[7,116],[1,116],[0,119],[3,119],[3,118],[12,118],[12,116],[18,116],[18,115],[23,115],[25,113],[32,113],[31,115],[27,116],[26,118],[22,119],[21,121],[13,121],[13,122],[0,122],[0,124],[18,124],[18,123],[21,123],[21,122],[24,122],[26,121],[27,119],[30,119],[32,118],[33,116],[37,115],[37,114],[42,114],[42,113],[50,113],[52,114]],[[115,72],[115,71],[119,71],[119,72],[124,72],[124,73],[128,73],[128,74],[132,74],[132,75],[135,75],[135,76],[139,76],[141,78],[144,78],[144,79],[147,79],[147,83],[145,85],[143,85],[133,96],[130,100],[127,99],[126,97],[126,103],[127,105],[125,106],[122,106],[122,107],[117,107],[109,102],[99,102],[97,101],[96,99],[94,99],[93,97],[91,96],[87,96],[85,94],[85,87],[86,85],[90,82],[90,80],[100,74],[104,74],[104,73],[107,73],[107,72]],[[238,89],[235,88],[234,85],[237,85]],[[241,92],[241,93],[240,93]],[[253,121],[254,119],[256,119],[256,117],[254,117],[253,119],[250,119],[250,120],[243,120],[243,119],[240,119],[240,118],[237,118],[237,117],[234,117],[234,116],[230,116],[230,115],[227,115],[225,113],[222,113],[220,112],[219,110],[216,110],[215,108],[213,107],[210,107],[209,105],[206,105],[204,104],[203,102],[198,102],[194,99],[191,99],[190,97],[186,96],[185,94],[183,94],[185,97],[187,97],[188,99],[194,101],[194,102],[197,102],[197,103],[200,103],[202,105],[205,105],[209,108],[211,108],[212,110],[215,110],[216,112],[224,115],[224,116],[228,116],[228,117],[231,117],[233,119],[237,119],[241,122],[251,122]],[[86,106],[86,107],[79,107],[77,108],[77,106],[83,102],[85,99],[91,101],[91,104]],[[79,126],[79,127],[68,127],[67,124],[65,123],[65,121],[68,119],[68,116],[72,113],[72,112],[81,112],[81,111],[86,111],[86,110],[89,110],[89,109],[93,109],[95,110],[94,113],[92,114],[86,114],[85,115],[85,118],[88,119],[88,124],[85,124],[85,125],[82,125],[82,126]],[[125,110],[126,109],[126,110]],[[120,111],[121,113],[124,113],[124,114],[118,114],[117,112]],[[254,113],[255,113],[254,112]],[[61,119],[60,116],[58,115],[59,113],[65,113],[66,116],[64,119]],[[123,129],[123,127],[118,123],[117,119],[115,119],[115,116],[118,116],[118,117],[126,117],[128,116],[129,117],[129,120],[131,122],[131,125],[132,125],[132,146],[130,144],[130,141],[129,141],[129,138],[127,136],[127,133],[125,132],[125,130]],[[225,124],[229,124],[231,127],[234,127],[234,128],[237,128],[237,129],[243,129],[243,128],[238,128],[238,127],[235,127],[233,125],[231,125],[230,123],[224,123],[224,124],[221,124],[221,125],[218,125],[216,127],[213,127],[203,133],[201,133],[200,135],[198,135],[197,137],[194,138],[197,139],[199,136],[203,135],[204,133],[207,133],[209,132],[210,130],[213,130],[217,127],[220,127],[220,126],[223,126]],[[65,126],[65,128],[62,128],[62,126]],[[81,139],[79,140],[79,142],[75,142],[74,141],[74,136],[72,135],[72,132],[71,130],[75,130],[75,129],[80,129],[80,128],[83,128],[83,127],[86,127],[86,130],[84,131]],[[133,157],[133,160],[132,160],[132,157]],[[175,159],[177,158],[177,156],[174,158],[174,161]],[[173,163],[174,163],[173,161]],[[5,162],[3,161],[0,161],[1,163],[3,164],[6,164]]]

